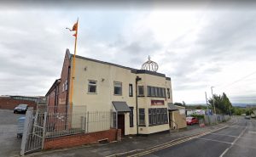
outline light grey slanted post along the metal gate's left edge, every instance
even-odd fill
[[[28,132],[30,130],[30,123],[32,119],[32,109],[28,109],[26,111],[26,120],[25,120],[25,124],[24,124],[24,129],[23,129],[23,135],[22,135],[22,141],[21,141],[21,147],[20,147],[20,155],[24,155],[25,154],[25,149],[26,149],[26,139],[27,139],[27,135]]]

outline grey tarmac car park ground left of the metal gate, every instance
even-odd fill
[[[0,109],[0,156],[20,154],[21,138],[17,138],[17,120],[21,114],[13,110]]]

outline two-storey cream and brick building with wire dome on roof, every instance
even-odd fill
[[[67,49],[61,78],[46,94],[52,112],[67,112],[71,106],[72,62],[73,54]],[[113,127],[121,129],[123,135],[169,131],[172,83],[157,69],[158,65],[149,58],[137,70],[76,55],[73,111],[113,111]]]

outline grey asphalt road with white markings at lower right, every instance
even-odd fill
[[[237,118],[236,123],[217,132],[160,149],[146,157],[252,157],[256,156],[256,120]]]

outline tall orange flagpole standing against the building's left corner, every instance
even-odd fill
[[[75,79],[75,68],[76,68],[76,53],[77,53],[77,41],[78,41],[78,32],[79,32],[79,18],[77,20],[77,28],[76,28],[76,33],[73,35],[75,36],[75,46],[74,46],[74,54],[73,54],[73,70],[71,73],[71,93],[70,93],[70,99],[69,99],[69,104],[70,108],[73,106],[73,81]]]

